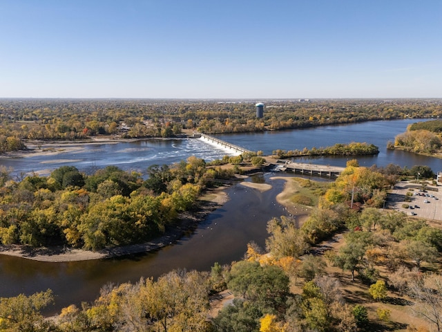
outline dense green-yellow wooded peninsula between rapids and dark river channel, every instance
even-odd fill
[[[63,166],[48,177],[13,180],[0,167],[0,243],[99,250],[148,241],[195,208],[215,179],[233,175],[233,168],[208,166],[191,156],[171,167],[149,167],[146,180],[115,166],[92,175]]]

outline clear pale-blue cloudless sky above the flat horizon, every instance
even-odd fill
[[[442,1],[0,0],[0,98],[442,98]]]

